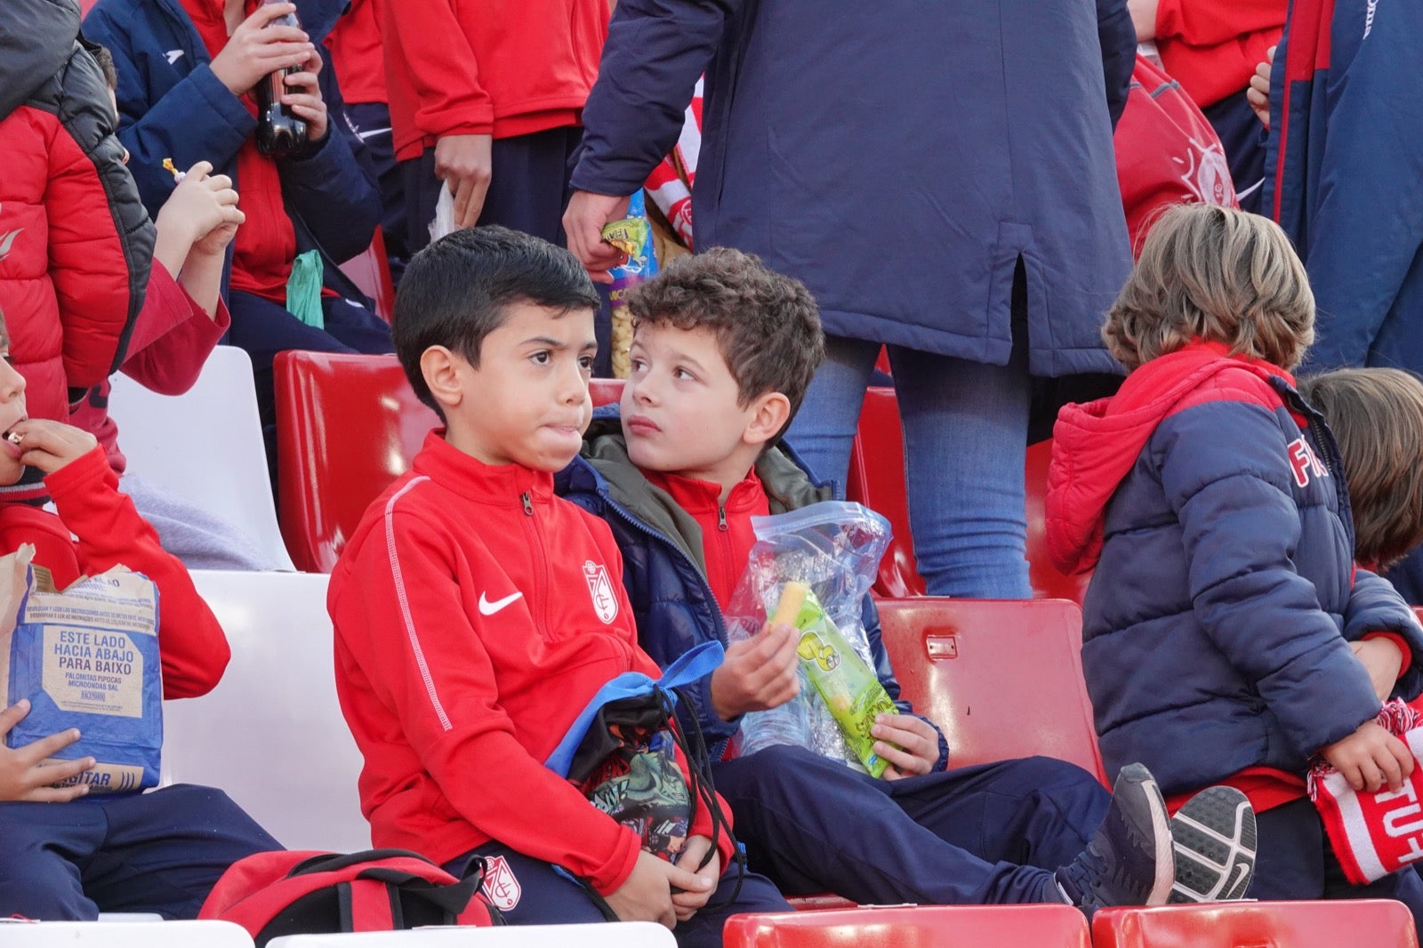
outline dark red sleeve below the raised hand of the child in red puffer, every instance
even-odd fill
[[[179,396],[198,381],[202,364],[231,325],[226,303],[219,300],[218,317],[209,319],[166,268],[154,260],[148,296],[128,339],[122,372],[158,394]]]

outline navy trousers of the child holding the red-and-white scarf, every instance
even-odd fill
[[[1423,880],[1417,871],[1406,868],[1368,885],[1350,884],[1309,800],[1257,813],[1255,826],[1259,851],[1245,898],[1396,898],[1423,931]]]

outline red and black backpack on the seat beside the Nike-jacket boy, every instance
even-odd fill
[[[484,871],[475,857],[455,878],[406,850],[258,853],[222,874],[198,918],[242,925],[258,948],[280,935],[502,925],[480,891]]]

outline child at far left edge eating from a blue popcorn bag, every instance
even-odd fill
[[[228,665],[222,626],[184,565],[159,548],[157,534],[118,493],[118,475],[94,436],[26,416],[26,383],[9,350],[0,319],[0,484],[17,481],[27,467],[41,471],[58,517],[28,504],[0,504],[0,551],[33,544],[34,564],[61,589],[115,565],[142,572],[159,594],[164,697],[208,693]],[[28,710],[30,702],[20,700],[0,712],[0,737]],[[7,914],[47,921],[92,920],[101,911],[196,918],[228,865],[282,848],[211,787],[80,800],[84,783],[53,786],[94,766],[92,757],[48,762],[78,737],[70,729],[21,747],[0,746],[0,905]]]

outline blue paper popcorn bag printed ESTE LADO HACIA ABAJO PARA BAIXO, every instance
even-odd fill
[[[158,786],[158,588],[120,567],[55,589],[33,557],[34,547],[24,544],[0,558],[0,680],[6,706],[30,699],[30,713],[6,743],[23,747],[78,727],[80,740],[55,760],[98,763],[67,783],[84,783],[90,793]]]

